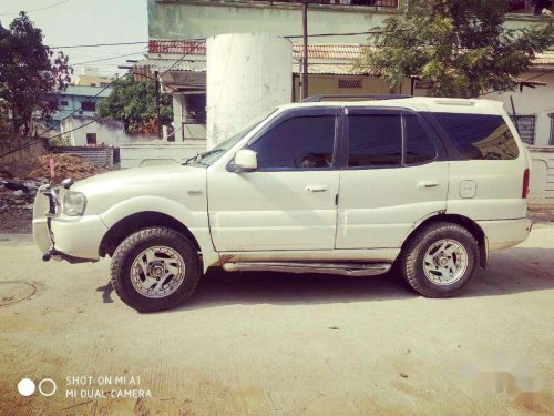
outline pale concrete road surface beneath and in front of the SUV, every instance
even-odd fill
[[[458,298],[393,275],[213,273],[150,315],[111,293],[107,262],[44,264],[29,237],[0,240],[1,415],[554,414],[552,225]],[[20,396],[23,377],[58,390]]]

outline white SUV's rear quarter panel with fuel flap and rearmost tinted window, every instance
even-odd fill
[[[507,116],[445,112],[433,116],[444,130],[450,153],[448,213],[473,220],[525,217],[522,186],[529,162]]]

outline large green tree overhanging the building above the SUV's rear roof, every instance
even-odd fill
[[[507,91],[535,53],[554,44],[552,24],[507,30],[509,0],[411,0],[384,21],[356,68],[398,87],[410,75],[430,81],[431,95],[472,98]]]

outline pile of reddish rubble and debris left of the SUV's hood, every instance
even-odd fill
[[[54,180],[66,177],[81,180],[104,172],[91,161],[76,154],[54,154]],[[43,155],[29,164],[0,170],[0,211],[32,210],[37,191],[50,183],[50,155]]]

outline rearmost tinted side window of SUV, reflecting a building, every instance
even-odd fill
[[[470,160],[517,159],[520,150],[501,115],[435,113],[460,153]]]

